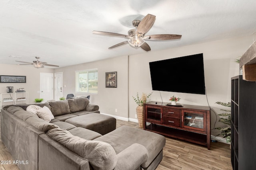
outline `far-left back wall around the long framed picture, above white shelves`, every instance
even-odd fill
[[[26,83],[0,83],[0,93],[6,93],[6,86],[13,86],[13,92],[18,88],[24,88],[28,92],[28,103],[34,103],[34,99],[40,97],[40,72],[54,73],[54,69],[0,64],[0,75],[26,76]]]

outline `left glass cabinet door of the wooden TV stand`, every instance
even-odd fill
[[[162,123],[162,107],[146,106],[146,120]]]

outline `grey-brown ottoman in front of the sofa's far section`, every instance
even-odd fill
[[[116,118],[102,115],[100,113],[90,113],[66,119],[65,122],[76,127],[83,127],[105,135],[116,129]]]

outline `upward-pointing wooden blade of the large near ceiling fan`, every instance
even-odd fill
[[[156,20],[156,16],[151,14],[146,15],[142,19],[142,21],[140,21],[136,32],[140,35],[147,33],[150,30],[150,28],[153,26],[155,20]]]

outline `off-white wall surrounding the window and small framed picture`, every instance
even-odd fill
[[[98,68],[98,94],[76,94],[75,71],[92,68]],[[115,71],[117,72],[117,88],[106,88],[105,73]],[[63,72],[64,97],[70,93],[75,96],[90,95],[90,103],[97,104],[101,113],[128,120],[128,56],[57,68],[55,72]]]

